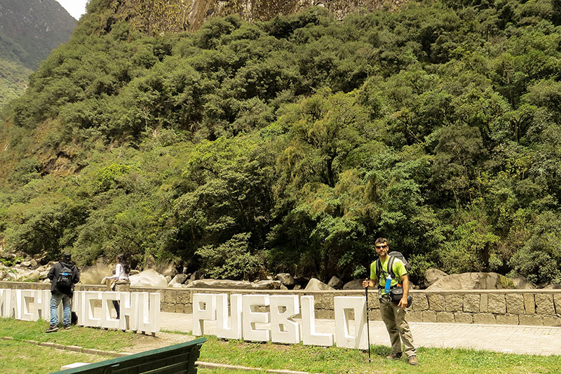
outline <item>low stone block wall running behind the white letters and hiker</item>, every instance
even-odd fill
[[[49,289],[48,283],[0,281],[0,288]],[[76,290],[105,290],[77,285]],[[334,296],[363,296],[362,290],[233,290],[217,288],[131,287],[135,292],[159,292],[162,312],[192,313],[193,293],[313,295],[317,319],[333,319]],[[561,326],[561,290],[412,290],[411,322],[498,323]],[[380,320],[377,293],[368,294],[369,316]],[[266,310],[266,308],[264,308]]]

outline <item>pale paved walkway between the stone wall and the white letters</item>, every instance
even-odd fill
[[[161,313],[162,330],[191,332],[192,323],[191,314]],[[208,323],[213,331],[215,325],[212,321]],[[318,333],[334,333],[334,326],[331,319],[316,319]],[[369,326],[370,343],[389,347],[384,323],[370,321]],[[561,354],[561,327],[426,322],[412,322],[410,327],[417,347],[472,348],[544,356]]]

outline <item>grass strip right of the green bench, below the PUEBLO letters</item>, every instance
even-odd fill
[[[419,366],[410,366],[405,359],[388,361],[385,357],[391,349],[384,346],[371,347],[372,362],[369,363],[367,352],[357,349],[227,342],[212,336],[207,339],[199,360],[254,368],[302,370],[309,373],[561,373],[561,356],[420,348]],[[199,372],[217,373],[216,370]]]

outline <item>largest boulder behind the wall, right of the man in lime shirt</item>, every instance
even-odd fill
[[[522,286],[522,283],[518,283]],[[525,285],[529,287],[528,284]],[[499,290],[517,288],[513,279],[497,273],[463,273],[452,274],[435,281],[427,290]]]

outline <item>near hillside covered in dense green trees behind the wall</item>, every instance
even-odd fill
[[[558,1],[155,34],[111,4],[90,1],[2,125],[4,251],[328,281],[365,276],[386,236],[414,279],[561,282]]]

